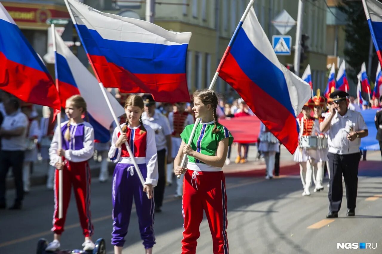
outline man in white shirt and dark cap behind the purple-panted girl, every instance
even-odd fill
[[[155,132],[155,143],[158,154],[158,184],[154,188],[155,212],[161,212],[163,194],[166,186],[165,168],[166,163],[172,162],[171,156],[171,129],[167,117],[155,110],[155,101],[151,95],[144,95],[145,112],[142,114],[142,122],[149,125]],[[167,156],[166,156],[167,150]],[[167,161],[166,161],[167,158]]]

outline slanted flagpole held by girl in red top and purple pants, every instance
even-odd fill
[[[70,15],[71,20],[73,21],[73,24],[77,24],[76,19],[74,19],[73,13],[72,13],[71,8],[70,8],[70,6],[69,6],[68,0],[65,0],[65,5],[66,5],[66,8],[68,9],[68,12],[69,12],[69,15]],[[84,46],[85,51],[87,51],[87,50],[86,50],[85,43],[84,43],[84,41],[82,40],[81,34],[79,33],[78,30],[77,30],[77,33],[78,33],[79,38],[80,38],[81,41],[82,41],[82,45]],[[87,53],[87,52],[86,52],[86,53]],[[102,91],[102,95],[104,95],[104,98],[105,98],[105,100],[106,100],[107,106],[108,106],[108,108],[110,109],[110,113],[112,113],[114,122],[115,122],[115,124],[117,125],[117,128],[119,129],[120,134],[123,135],[124,132],[123,132],[123,130],[122,130],[122,128],[121,128],[121,125],[120,125],[120,123],[119,123],[119,121],[118,121],[117,116],[115,115],[115,112],[114,112],[114,110],[113,110],[112,104],[110,103],[110,100],[109,100],[109,98],[108,98],[108,96],[107,96],[107,93],[106,93],[105,88],[104,88],[104,84],[102,84],[102,81],[100,80],[100,78],[99,78],[99,76],[98,76],[97,69],[94,68],[94,64],[93,64],[93,62],[92,62],[92,59],[89,57],[89,54],[87,54],[87,57],[88,57],[88,59],[89,59],[89,63],[91,64],[91,66],[92,66],[92,68],[93,68],[95,77],[97,78],[97,80],[98,80],[98,82],[99,82],[98,84],[99,84],[100,89],[101,89],[101,91]],[[145,181],[144,181],[144,179],[143,179],[142,172],[141,172],[141,170],[139,170],[138,164],[137,164],[137,162],[136,162],[135,159],[134,159],[134,154],[133,154],[133,152],[131,151],[131,148],[130,148],[130,146],[129,146],[129,144],[128,144],[127,141],[125,141],[125,146],[126,146],[126,148],[127,148],[127,151],[128,151],[128,153],[129,153],[129,155],[130,155],[131,160],[133,161],[134,169],[135,169],[135,171],[136,171],[137,174],[138,174],[139,180],[141,181],[142,186],[144,186],[144,182],[145,182]],[[147,195],[147,198],[149,198],[149,193],[148,193],[148,192],[146,193],[146,195]]]

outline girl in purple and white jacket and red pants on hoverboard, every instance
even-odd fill
[[[94,249],[91,236],[94,233],[90,214],[90,168],[87,161],[94,153],[94,130],[91,124],[82,118],[86,113],[86,102],[79,95],[73,95],[66,100],[65,113],[68,121],[63,122],[54,132],[52,144],[49,148],[50,165],[55,167],[54,184],[54,240],[49,243],[46,251],[56,251],[60,248],[61,234],[64,231],[66,211],[70,201],[71,186],[78,208],[79,220],[85,236],[82,244],[84,251]],[[61,135],[62,149],[58,148]],[[62,158],[62,162],[60,161]],[[62,171],[63,181],[63,217],[58,218],[58,170]]]

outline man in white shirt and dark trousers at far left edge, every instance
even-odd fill
[[[10,209],[21,209],[23,200],[23,163],[26,149],[26,132],[28,118],[19,111],[19,101],[10,98],[4,103],[6,116],[0,128],[1,148],[0,151],[0,208],[6,207],[5,203],[5,178],[12,167],[15,178],[16,199]]]

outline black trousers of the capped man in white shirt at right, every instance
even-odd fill
[[[348,209],[356,208],[358,189],[358,164],[360,153],[334,154],[328,153],[330,170],[329,211],[338,212],[342,203],[342,175],[345,180]]]

